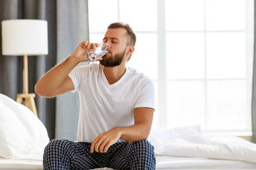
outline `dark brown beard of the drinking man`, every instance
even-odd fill
[[[120,52],[117,55],[112,55],[110,57],[104,57],[102,60],[100,60],[100,64],[104,65],[105,67],[119,66],[119,64],[122,63],[122,60],[124,60],[125,52],[126,52],[126,49],[124,50],[124,52]]]

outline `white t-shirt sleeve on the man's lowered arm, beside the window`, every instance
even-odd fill
[[[154,108],[154,84],[149,79],[144,79],[139,84],[139,96],[135,103],[135,108]]]

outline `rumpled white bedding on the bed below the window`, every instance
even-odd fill
[[[240,137],[205,137],[198,126],[154,130],[149,141],[160,155],[256,163],[256,144]]]

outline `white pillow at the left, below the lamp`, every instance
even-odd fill
[[[0,94],[0,157],[41,153],[48,142],[41,120],[26,106]]]

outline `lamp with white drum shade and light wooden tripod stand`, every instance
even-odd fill
[[[23,103],[37,115],[34,98],[28,93],[28,55],[48,55],[47,21],[16,19],[1,22],[2,55],[23,56],[23,94],[16,101]]]

